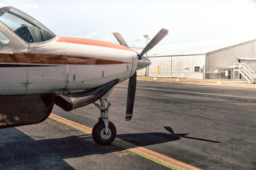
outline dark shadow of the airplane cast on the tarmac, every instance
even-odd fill
[[[118,134],[116,137],[138,146],[148,146],[182,138],[220,143],[208,139],[175,134],[171,127],[164,127],[168,133],[152,132]],[[115,145],[99,146],[91,135],[68,136],[57,139],[35,140],[18,129],[0,129],[0,169],[74,169],[64,159],[124,151]]]

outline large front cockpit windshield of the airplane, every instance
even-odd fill
[[[0,21],[28,43],[38,43],[55,37],[40,22],[10,6],[0,9]]]

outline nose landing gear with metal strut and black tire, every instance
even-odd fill
[[[107,107],[105,107],[105,102],[108,104]],[[116,127],[108,120],[108,110],[111,104],[106,97],[100,98],[100,105],[93,104],[100,109],[100,117],[99,122],[92,129],[92,138],[98,145],[109,145],[116,138]]]

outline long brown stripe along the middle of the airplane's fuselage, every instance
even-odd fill
[[[19,64],[77,64],[77,65],[100,65],[100,64],[131,64],[118,60],[95,59],[92,57],[79,57],[70,55],[56,55],[45,53],[13,53],[12,55],[0,54],[0,62]]]

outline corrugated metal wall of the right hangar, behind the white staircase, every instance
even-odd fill
[[[221,67],[233,66],[238,58],[256,58],[256,39],[205,54],[205,78],[220,78]],[[256,71],[256,62],[250,63]]]

